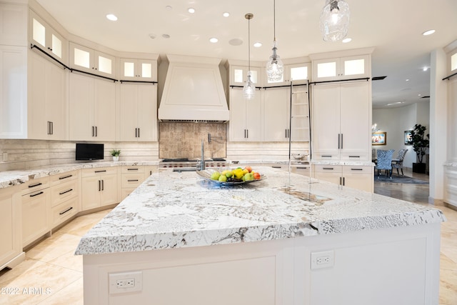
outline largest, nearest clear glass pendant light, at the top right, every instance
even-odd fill
[[[349,5],[344,0],[326,0],[321,11],[321,32],[324,41],[340,41],[348,33]]]

